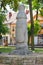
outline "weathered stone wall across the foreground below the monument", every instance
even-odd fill
[[[43,54],[0,55],[0,65],[43,65]]]

